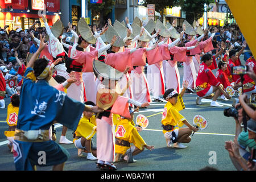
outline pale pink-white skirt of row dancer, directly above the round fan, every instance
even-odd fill
[[[130,75],[132,78],[133,99],[141,103],[151,102],[148,82],[143,69],[143,66],[139,66],[131,71]]]

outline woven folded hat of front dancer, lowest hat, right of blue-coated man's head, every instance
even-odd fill
[[[93,72],[96,77],[100,76],[108,80],[118,81],[123,77],[122,72],[98,60],[93,60]]]

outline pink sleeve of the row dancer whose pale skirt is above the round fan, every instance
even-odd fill
[[[131,64],[133,66],[146,65],[146,48],[139,48],[131,53]]]

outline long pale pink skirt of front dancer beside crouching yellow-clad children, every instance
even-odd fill
[[[115,162],[113,114],[102,116],[97,122],[97,159],[103,162]]]

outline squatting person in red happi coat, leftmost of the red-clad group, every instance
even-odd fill
[[[203,97],[207,97],[210,94],[215,93],[210,106],[222,107],[222,105],[216,102],[218,96],[223,93],[226,98],[230,99],[231,97],[225,92],[223,85],[217,80],[210,69],[210,65],[213,63],[212,55],[210,55],[210,53],[206,53],[203,55],[201,60],[203,63],[200,64],[199,73],[196,79],[196,104],[200,105]]]

